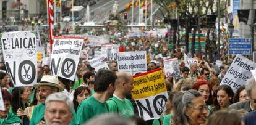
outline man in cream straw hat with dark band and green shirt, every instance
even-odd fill
[[[40,83],[35,84],[38,90],[39,97],[41,99],[41,104],[37,105],[33,110],[33,115],[30,121],[30,125],[36,125],[44,120],[45,114],[45,100],[53,93],[62,92],[64,89],[59,86],[59,80],[56,76],[45,75],[41,78]]]

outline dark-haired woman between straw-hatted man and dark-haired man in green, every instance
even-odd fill
[[[73,104],[74,104],[74,109],[77,111],[77,107],[79,104],[90,97],[92,95],[90,89],[86,86],[79,86],[77,89],[75,89],[74,92],[74,99],[73,99]]]

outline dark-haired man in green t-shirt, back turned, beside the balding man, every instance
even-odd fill
[[[80,103],[76,124],[83,124],[93,116],[108,112],[106,100],[114,93],[117,76],[113,71],[100,69],[95,76],[95,94]]]

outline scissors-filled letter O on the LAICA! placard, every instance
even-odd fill
[[[25,65],[29,65],[28,67],[25,67]],[[25,74],[22,74],[22,69],[25,70]],[[32,70],[31,74],[28,74],[28,72]],[[18,69],[18,77],[20,79],[20,83],[22,84],[31,84],[35,80],[36,76],[36,68],[33,62],[30,60],[24,60],[22,63],[19,65]],[[28,80],[25,80],[27,78]]]

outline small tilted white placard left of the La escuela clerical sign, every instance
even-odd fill
[[[101,68],[103,69],[109,69],[108,63],[103,62],[105,60],[105,57],[96,57],[93,58],[92,60],[89,60],[88,62],[90,63],[91,67],[95,68],[95,74],[100,70]]]

